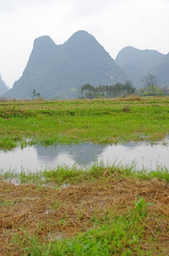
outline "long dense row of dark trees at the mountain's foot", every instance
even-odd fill
[[[124,85],[117,82],[116,85],[99,85],[99,87],[85,84],[80,87],[80,98],[126,97],[133,95],[135,91],[136,88],[133,87],[129,81],[127,81]]]

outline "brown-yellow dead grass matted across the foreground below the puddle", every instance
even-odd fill
[[[71,237],[91,228],[93,215],[102,218],[107,210],[114,209],[118,215],[127,213],[141,197],[154,203],[147,207],[147,233],[155,237],[159,233],[161,245],[169,252],[169,186],[165,181],[110,177],[59,190],[0,182],[0,196],[2,255],[22,255],[17,245],[9,243],[13,235],[24,235],[25,229],[47,242]]]

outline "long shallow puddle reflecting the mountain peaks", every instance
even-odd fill
[[[54,169],[60,165],[91,166],[94,162],[136,166],[136,169],[169,168],[169,141],[158,144],[126,143],[117,146],[96,144],[28,146],[14,151],[0,151],[0,169],[4,171],[31,171]]]

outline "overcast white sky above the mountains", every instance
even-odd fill
[[[169,52],[169,0],[0,0],[0,73],[6,85],[21,77],[33,41],[56,44],[85,30],[112,58],[125,46]]]

